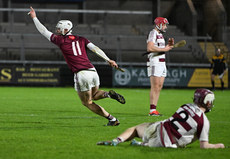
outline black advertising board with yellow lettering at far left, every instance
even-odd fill
[[[59,85],[59,67],[0,66],[0,85]]]

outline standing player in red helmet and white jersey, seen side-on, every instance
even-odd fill
[[[157,17],[154,20],[155,28],[149,33],[147,39],[147,72],[150,77],[150,116],[161,115],[157,110],[157,103],[160,91],[163,87],[167,74],[165,64],[165,52],[170,51],[174,45],[174,39],[170,38],[168,44],[165,44],[163,33],[166,32],[168,20],[163,17]]]

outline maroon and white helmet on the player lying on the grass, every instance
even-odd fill
[[[208,89],[197,89],[194,93],[193,102],[198,106],[201,106],[206,109],[206,113],[211,111],[214,107],[213,103],[215,100],[214,93]]]

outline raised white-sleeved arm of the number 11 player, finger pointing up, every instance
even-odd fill
[[[36,28],[38,29],[38,31],[50,41],[50,37],[53,33],[48,31],[46,27],[40,23],[40,21],[38,20],[36,16],[36,12],[32,7],[30,7],[30,12],[28,14],[33,19],[34,24]]]

